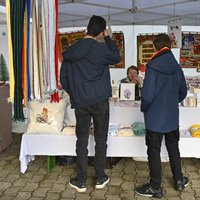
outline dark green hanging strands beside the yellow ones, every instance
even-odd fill
[[[10,0],[10,19],[13,49],[13,68],[15,78],[14,91],[14,117],[13,121],[24,121],[23,91],[22,91],[22,48],[23,48],[23,22],[26,0]]]

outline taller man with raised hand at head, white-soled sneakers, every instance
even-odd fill
[[[70,186],[78,192],[86,191],[88,137],[91,117],[95,137],[96,188],[103,188],[109,177],[105,174],[107,133],[109,125],[109,97],[112,96],[109,65],[121,61],[118,48],[108,35],[106,21],[93,15],[84,39],[63,52],[60,81],[69,94],[76,116],[77,177]],[[97,42],[104,36],[105,43]]]

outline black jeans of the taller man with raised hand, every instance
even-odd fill
[[[96,180],[105,176],[107,136],[109,125],[109,101],[104,100],[100,103],[84,108],[75,109],[76,116],[76,154],[77,154],[77,179],[81,182],[87,180],[88,163],[88,137],[91,117],[94,123],[95,138],[95,178]]]

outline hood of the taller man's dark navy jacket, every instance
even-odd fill
[[[93,42],[96,40],[92,38],[86,38],[78,41],[72,46],[68,47],[63,53],[63,59],[68,60],[70,62],[77,62],[84,58],[89,49],[91,48]]]

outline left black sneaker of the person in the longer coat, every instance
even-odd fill
[[[145,197],[153,197],[158,199],[163,197],[162,188],[160,187],[158,190],[155,190],[149,183],[143,185],[142,187],[136,187],[135,192]]]

